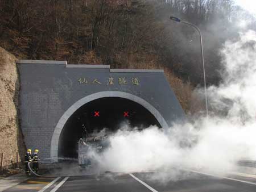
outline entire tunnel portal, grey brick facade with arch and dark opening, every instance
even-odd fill
[[[43,162],[77,158],[76,144],[85,133],[122,126],[165,129],[185,119],[163,70],[41,60],[17,65],[24,142],[39,149]]]

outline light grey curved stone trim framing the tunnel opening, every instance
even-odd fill
[[[57,123],[55,130],[52,135],[51,140],[51,161],[58,162],[58,150],[59,150],[59,139],[61,131],[63,130],[65,123],[67,123],[68,119],[73,115],[73,113],[78,110],[81,106],[85,105],[88,102],[91,102],[96,99],[105,98],[105,97],[119,97],[129,99],[138,103],[139,105],[146,108],[151,114],[158,120],[160,126],[164,129],[168,128],[168,124],[166,120],[164,120],[163,116],[160,114],[158,110],[150,103],[145,101],[144,99],[122,91],[101,91],[98,93],[90,94],[84,98],[81,98],[79,101],[74,103],[71,107],[68,108],[67,111],[61,116],[59,122]]]

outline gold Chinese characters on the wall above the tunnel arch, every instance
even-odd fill
[[[106,81],[106,85],[127,85],[127,84],[133,84],[133,85],[140,85],[139,78],[138,77],[132,77],[132,78],[126,78],[126,77],[119,77],[117,78],[117,81],[114,81],[115,79],[113,77],[109,77]],[[99,81],[97,78],[93,80],[89,80],[85,77],[81,77],[78,79],[79,84],[104,84],[103,82]]]

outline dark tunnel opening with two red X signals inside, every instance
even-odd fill
[[[161,127],[150,111],[129,99],[104,97],[90,101],[65,123],[60,133],[58,156],[77,158],[77,141],[80,138],[115,132],[127,125],[139,129],[151,125]]]

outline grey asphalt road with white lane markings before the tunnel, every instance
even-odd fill
[[[228,178],[177,170],[169,172],[117,174],[105,173],[96,177],[30,178],[6,192],[255,192],[256,176],[230,175]]]

